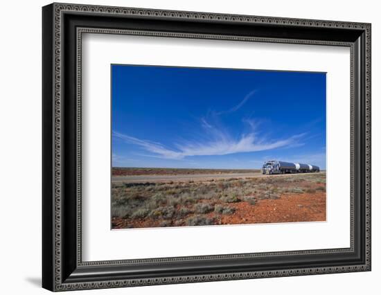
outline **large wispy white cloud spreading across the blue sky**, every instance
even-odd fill
[[[119,138],[125,143],[136,145],[146,152],[140,154],[145,157],[157,157],[161,159],[182,160],[186,157],[194,156],[222,156],[226,154],[237,154],[242,152],[260,152],[264,150],[274,150],[280,147],[296,147],[303,145],[301,138],[305,133],[295,134],[287,138],[269,139],[258,136],[258,121],[245,118],[243,123],[249,126],[250,131],[242,134],[229,133],[227,128],[220,124],[220,115],[238,111],[251,96],[256,93],[253,90],[243,98],[238,105],[227,111],[209,111],[206,117],[200,118],[200,126],[196,125],[195,130],[202,129],[202,132],[193,136],[191,140],[175,142],[172,141],[171,147],[150,141],[147,139],[136,138],[129,134],[113,131],[114,138]]]

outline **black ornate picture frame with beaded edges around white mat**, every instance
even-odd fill
[[[44,6],[42,20],[44,288],[64,291],[371,270],[371,24],[66,3]],[[349,47],[351,247],[83,262],[83,33]]]

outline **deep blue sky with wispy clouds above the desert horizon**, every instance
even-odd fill
[[[326,168],[326,73],[112,65],[112,166]]]

